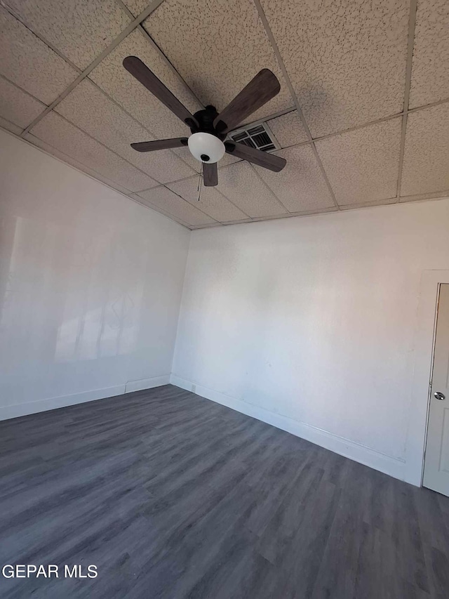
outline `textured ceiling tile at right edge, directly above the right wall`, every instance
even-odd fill
[[[449,103],[408,115],[401,196],[449,189]]]

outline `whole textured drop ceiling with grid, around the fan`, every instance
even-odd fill
[[[190,229],[449,195],[448,0],[1,0],[0,126]],[[187,128],[123,68],[137,55],[191,111],[262,68],[253,117],[287,159],[226,156],[200,185]]]

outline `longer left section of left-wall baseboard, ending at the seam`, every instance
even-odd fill
[[[0,420],[18,418],[18,416],[27,416],[28,414],[36,414],[37,412],[47,412],[49,409],[62,408],[74,404],[103,400],[105,397],[114,397],[114,395],[121,395],[122,393],[125,393],[125,385],[116,385],[114,387],[83,391],[83,393],[47,397],[45,400],[37,400],[36,402],[28,402],[26,404],[4,406],[0,407]]]

